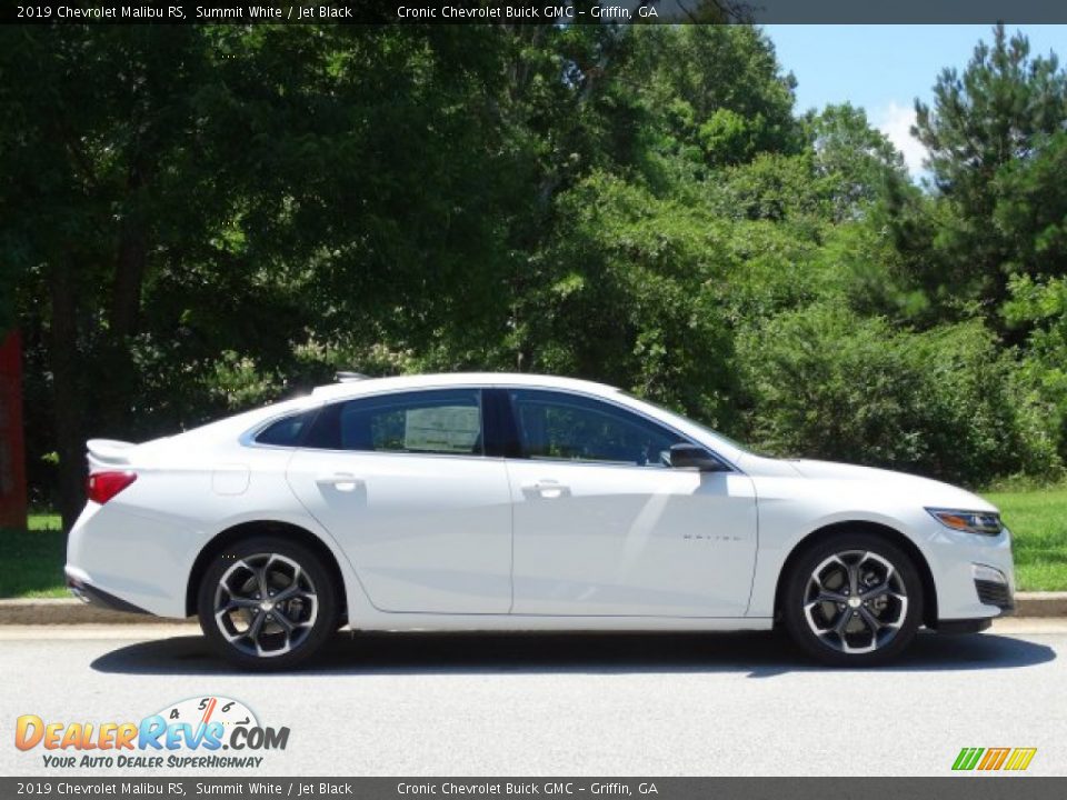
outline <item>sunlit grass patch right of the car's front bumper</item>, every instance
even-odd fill
[[[1024,591],[1067,591],[1067,487],[987,492],[1015,537],[1015,577]]]

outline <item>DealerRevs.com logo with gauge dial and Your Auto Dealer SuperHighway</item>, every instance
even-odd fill
[[[285,750],[289,728],[259,723],[245,703],[198,697],[167,706],[139,722],[56,722],[22,714],[19,750],[43,750],[50,768],[257,769],[268,750]]]

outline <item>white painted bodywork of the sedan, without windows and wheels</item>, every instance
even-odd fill
[[[387,391],[526,387],[622,406],[714,452],[727,472],[520,458],[313,451],[253,444],[286,414]],[[242,523],[318,538],[367,630],[737,630],[770,627],[790,552],[835,523],[884,526],[919,551],[940,620],[995,617],[971,569],[1014,592],[1010,534],[949,530],[928,507],[995,511],[956,487],[747,453],[684,418],[586,381],[523,374],[375,379],[130,446],[94,441],[93,470],[137,480],[88,503],[68,574],[161,617],[189,611],[198,556]],[[349,481],[338,478],[351,477]],[[555,492],[550,482],[561,490]],[[531,489],[535,484],[548,489]]]

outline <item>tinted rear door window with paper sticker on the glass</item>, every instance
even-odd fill
[[[323,450],[482,454],[481,392],[439,389],[327,406],[306,446]]]

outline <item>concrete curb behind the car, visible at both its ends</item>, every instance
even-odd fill
[[[1015,616],[1067,618],[1067,592],[1018,592]],[[0,600],[0,626],[19,624],[186,624],[186,619],[110,611],[66,598]]]

